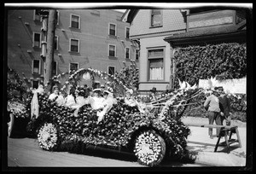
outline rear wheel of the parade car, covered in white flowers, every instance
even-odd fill
[[[57,129],[52,123],[45,123],[38,132],[38,143],[44,150],[53,150],[57,146]]]

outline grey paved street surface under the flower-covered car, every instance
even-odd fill
[[[38,147],[37,139],[8,138],[8,166],[57,166],[57,167],[144,167],[127,153],[97,148],[86,154],[49,152]],[[165,161],[162,166],[201,166]]]

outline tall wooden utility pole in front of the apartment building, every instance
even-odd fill
[[[56,10],[49,9],[48,28],[47,28],[47,46],[46,59],[44,67],[44,84],[49,84],[49,90],[52,89],[52,70],[54,62],[54,45],[55,45],[55,23]]]

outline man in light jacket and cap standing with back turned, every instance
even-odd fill
[[[218,100],[218,87],[215,87],[214,90],[212,90],[212,95],[207,97],[206,102],[204,103],[204,107],[208,111],[208,119],[209,119],[209,125],[213,125],[213,122],[215,120],[216,125],[223,125],[223,119],[220,115],[220,103]],[[220,128],[217,128],[217,136],[219,135]],[[212,128],[209,128],[209,136],[212,139]]]

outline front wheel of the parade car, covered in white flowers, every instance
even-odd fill
[[[143,131],[136,138],[134,153],[142,165],[159,165],[166,154],[166,142],[155,131]]]

